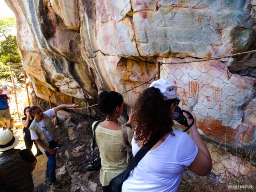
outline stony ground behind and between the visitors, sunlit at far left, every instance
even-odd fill
[[[16,81],[15,79],[15,86],[11,80],[0,79],[0,82],[7,83],[13,90],[13,96],[10,103],[12,128],[14,134],[20,138],[20,142],[16,148],[24,149],[25,143],[23,139],[23,126],[21,125],[21,119],[23,117],[23,108],[29,105],[24,81]],[[14,90],[16,92],[16,96]],[[29,94],[32,94],[31,89],[29,89]],[[29,97],[31,100],[30,105],[36,105],[39,103],[38,101],[33,101],[31,95]],[[44,110],[49,109],[49,104],[47,102],[41,102],[41,104],[47,104],[41,106]],[[55,189],[52,186],[47,186],[44,178],[47,158],[45,155],[40,155],[37,157],[37,166],[33,172],[35,192],[102,191],[102,187],[99,182],[99,172],[87,172],[86,170],[86,166],[93,159],[91,151],[93,138],[91,123],[94,120],[95,119],[93,118],[78,115],[69,110],[59,111],[57,113],[57,117],[54,119],[54,122],[60,133],[60,137],[58,154],[56,156],[56,177],[61,183],[61,188]],[[36,153],[35,146],[33,146],[32,151],[34,154]]]

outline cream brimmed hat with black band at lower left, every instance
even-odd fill
[[[19,143],[19,137],[13,135],[11,131],[0,131],[0,152],[14,148]]]

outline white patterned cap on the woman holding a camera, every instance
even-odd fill
[[[165,100],[177,98],[180,101],[182,101],[181,97],[178,96],[177,86],[164,78],[159,79],[157,81],[153,81],[149,85],[149,87],[155,87],[160,89],[160,92],[163,94]]]

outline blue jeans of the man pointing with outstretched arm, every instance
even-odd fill
[[[49,148],[55,148],[58,146],[58,142],[54,140],[49,142]],[[56,154],[50,154],[48,151],[44,151],[47,156],[47,169],[45,176],[49,179],[50,182],[56,181]]]

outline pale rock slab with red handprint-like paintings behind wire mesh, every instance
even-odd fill
[[[198,128],[206,140],[244,157],[256,157],[256,79],[232,74],[217,60],[158,61],[163,62],[161,75],[177,85],[181,107],[196,114]]]

